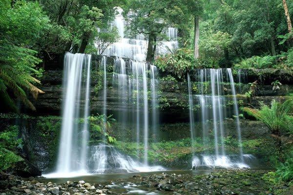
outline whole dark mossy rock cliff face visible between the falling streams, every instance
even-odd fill
[[[103,113],[103,72],[100,71],[100,57],[94,56],[91,71],[91,90],[90,90],[90,114],[96,115]],[[111,125],[110,136],[117,138],[119,141],[135,141],[136,140],[136,125],[135,119],[131,118],[136,112],[136,100],[133,98],[135,90],[128,89],[127,98],[122,100],[119,97],[120,90],[117,82],[113,79],[114,57],[107,57],[107,74],[106,74],[106,113],[113,115],[117,119]],[[124,59],[126,62],[126,72],[129,71],[131,61]],[[60,67],[56,66],[56,67]],[[203,125],[212,133],[214,128],[212,121],[209,119],[205,123],[201,121],[201,104],[198,98],[201,95],[199,83],[196,81],[198,70],[191,73],[191,91],[193,94],[193,112],[194,112],[194,129],[196,135],[201,137],[203,135]],[[238,72],[239,73],[239,72]],[[238,75],[238,77],[237,77]],[[241,84],[237,84],[239,80]],[[174,81],[171,77],[158,72],[156,83],[157,105],[156,116],[160,125],[157,125],[157,131],[154,132],[152,126],[149,128],[149,137],[155,141],[180,140],[190,137],[189,126],[189,103],[188,103],[188,83],[187,79],[181,81]],[[253,105],[258,106],[258,101],[263,101],[269,104],[272,99],[280,101],[289,97],[293,92],[293,76],[290,72],[285,70],[241,70],[239,74],[233,74],[234,85],[236,90],[237,104],[239,106]],[[131,80],[129,77],[127,83]],[[257,80],[256,88],[254,88],[254,95],[250,98],[244,94],[251,89],[252,82]],[[271,83],[279,80],[282,85],[280,89],[273,91]],[[37,108],[37,112],[28,114],[36,116],[25,120],[23,126],[26,128],[25,135],[29,137],[29,146],[26,151],[28,159],[33,164],[37,165],[42,171],[49,172],[54,170],[56,156],[58,153],[59,133],[61,129],[62,119],[62,100],[63,100],[63,70],[47,70],[42,78],[42,86],[40,87],[45,93],[40,94],[37,100],[32,100]],[[151,80],[147,79],[147,86],[151,86]],[[205,83],[205,95],[211,94],[211,86]],[[223,92],[222,107],[226,111],[228,118],[224,119],[225,135],[224,137],[237,137],[235,131],[235,120],[233,120],[233,96],[231,96],[230,83],[222,83],[221,91]],[[151,96],[150,87],[148,87],[148,97]],[[292,97],[292,95],[291,95]],[[143,102],[142,100],[140,102]],[[84,102],[79,102],[84,104]],[[151,99],[148,98],[148,111],[151,115]],[[143,107],[143,104],[139,105]],[[206,105],[209,109],[207,112],[212,112],[212,105]],[[123,113],[123,116],[121,116]],[[139,113],[142,114],[142,113]],[[40,117],[51,115],[53,117]],[[245,116],[248,118],[248,116]],[[151,118],[151,117],[149,117]],[[126,119],[126,120],[125,120]],[[127,121],[126,123],[124,121]],[[151,119],[150,119],[151,120]],[[8,123],[7,121],[5,123]],[[13,124],[13,121],[11,122]],[[151,123],[150,123],[151,124]],[[142,125],[142,124],[141,124]],[[219,124],[216,124],[219,125]],[[241,134],[243,139],[270,139],[270,133],[266,126],[259,121],[240,120]],[[143,129],[143,127],[141,127]],[[218,127],[219,128],[219,127]],[[141,132],[140,140],[143,140],[143,132]],[[179,163],[180,161],[178,161]]]

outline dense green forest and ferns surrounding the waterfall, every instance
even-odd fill
[[[1,111],[20,112],[16,106],[19,101],[36,110],[31,99],[43,93],[39,78],[48,61],[65,52],[102,55],[106,47],[119,40],[117,29],[108,25],[118,6],[125,10],[127,36],[144,34],[148,40],[146,61],[154,62],[174,80],[195,68],[293,71],[292,0],[287,4],[286,0],[1,0]],[[155,56],[159,41],[168,39],[168,27],[178,29],[180,48]],[[250,84],[248,97],[253,95],[256,83]],[[279,84],[278,80],[272,83],[275,90]],[[285,150],[283,145],[284,137],[293,134],[292,107],[290,100],[283,104],[273,100],[271,108],[261,103],[260,110],[243,109],[269,127],[280,165],[276,176],[288,181],[293,179],[293,155],[291,148]],[[121,150],[134,148],[111,137],[111,116],[97,115],[89,120],[92,139],[112,143]],[[16,126],[0,129],[0,171],[21,160],[15,155],[21,146],[17,132]],[[45,131],[42,136],[49,133]],[[225,144],[233,141],[228,137]],[[153,159],[162,160],[165,156],[156,156],[154,151],[169,152],[174,145],[186,146],[189,142],[154,143],[149,153]],[[201,142],[198,140],[199,146]],[[184,156],[184,152],[175,155]]]

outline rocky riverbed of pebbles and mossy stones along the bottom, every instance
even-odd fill
[[[191,171],[190,171],[191,172]],[[52,180],[54,181],[54,179]],[[293,185],[263,170],[212,170],[209,174],[147,174],[99,183],[1,176],[0,195],[293,195]]]

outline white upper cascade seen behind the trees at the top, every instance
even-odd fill
[[[112,27],[117,27],[121,39],[113,43],[105,50],[104,55],[118,56],[123,58],[134,59],[137,61],[146,60],[147,43],[143,34],[137,35],[135,39],[130,39],[125,35],[126,21],[123,18],[123,9],[117,8],[118,14],[111,23]],[[177,29],[168,28],[166,32],[168,40],[157,43],[156,54],[165,54],[168,50],[178,49]]]

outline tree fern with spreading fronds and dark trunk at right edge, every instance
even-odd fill
[[[277,156],[281,162],[284,162],[281,136],[290,132],[290,128],[293,126],[293,100],[289,99],[281,104],[273,99],[271,108],[263,102],[259,102],[259,104],[260,109],[244,107],[242,110],[267,125],[274,139]]]

